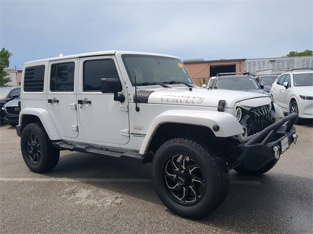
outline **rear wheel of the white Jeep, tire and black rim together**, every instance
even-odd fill
[[[30,123],[24,127],[21,150],[27,167],[33,172],[47,172],[59,161],[60,150],[52,146],[51,140],[40,123]]]

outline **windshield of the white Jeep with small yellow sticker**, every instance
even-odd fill
[[[133,85],[135,77],[137,85],[144,82],[170,81],[194,84],[179,59],[147,55],[123,55],[122,59]]]

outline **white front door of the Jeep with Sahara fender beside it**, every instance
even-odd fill
[[[115,56],[88,57],[79,60],[78,113],[80,128],[98,145],[126,144],[129,141],[129,116],[124,103],[113,100],[112,93],[101,93],[101,78],[118,78],[121,74]],[[127,110],[127,109],[126,109]],[[103,142],[103,143],[101,143]]]

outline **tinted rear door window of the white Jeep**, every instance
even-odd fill
[[[72,92],[74,91],[74,62],[55,63],[51,65],[50,91]]]

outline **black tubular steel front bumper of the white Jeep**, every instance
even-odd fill
[[[288,136],[289,145],[294,142],[292,135],[295,134],[295,128],[293,124],[297,118],[298,114],[289,114],[262,130],[246,143],[239,144],[237,147],[241,150],[241,154],[230,166],[230,169],[241,164],[246,169],[257,171],[275,159],[273,148],[279,147],[281,154],[281,140],[284,137]],[[284,125],[285,122],[288,123]]]

